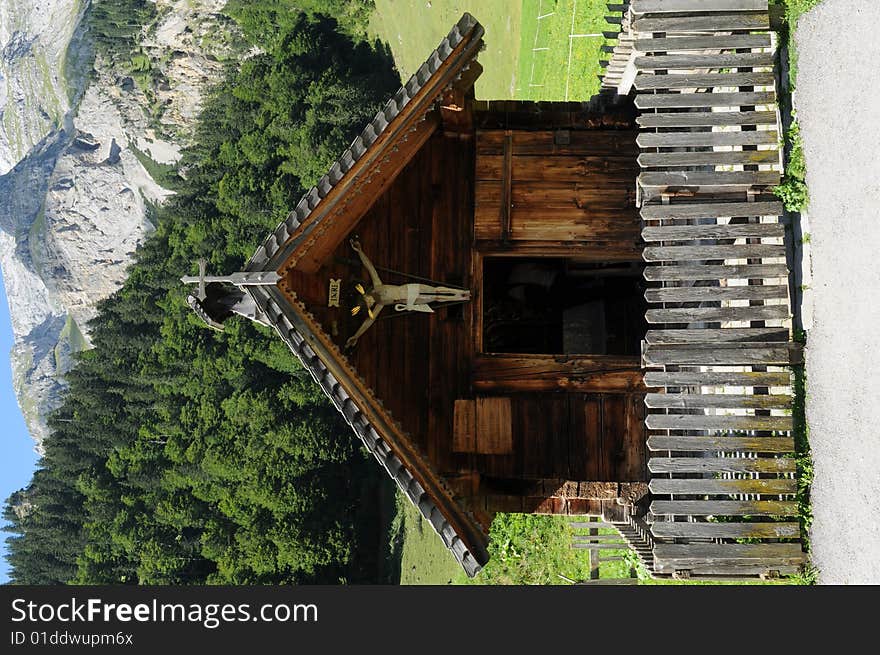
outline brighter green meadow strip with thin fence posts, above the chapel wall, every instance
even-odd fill
[[[524,0],[516,97],[526,100],[587,100],[599,91],[599,60],[605,2]],[[538,19],[538,16],[546,16]],[[548,48],[536,50],[536,48]]]

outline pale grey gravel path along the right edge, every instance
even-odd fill
[[[799,24],[795,108],[810,187],[807,422],[822,584],[880,584],[880,3]]]

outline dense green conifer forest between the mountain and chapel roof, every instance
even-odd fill
[[[179,282],[200,257],[241,270],[399,85],[389,54],[351,37],[365,3],[311,4],[345,8],[345,30],[293,11],[308,2],[230,2],[260,54],[210,94],[177,195],[7,501],[14,583],[377,581],[390,482],[277,335],[208,330]]]

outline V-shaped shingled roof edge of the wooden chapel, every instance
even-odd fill
[[[432,109],[443,89],[460,77],[482,47],[482,26],[470,14],[464,14],[458,23],[431,53],[409,81],[386,103],[375,118],[367,124],[361,134],[354,139],[342,156],[331,166],[320,181],[306,193],[296,208],[265,239],[253,257],[248,261],[247,271],[278,270],[288,256],[309,237],[316,225],[328,219],[329,212],[320,212],[322,201],[334,189],[342,193],[355,188],[356,177],[352,168],[364,158],[380,156],[383,150],[393,146],[396,132],[398,138],[406,138],[402,121],[396,120],[426,86],[435,85],[435,77],[442,69],[443,79],[440,93],[426,98],[419,97],[419,111]],[[459,47],[461,46],[461,47]],[[456,50],[458,49],[458,50]],[[456,52],[457,61],[444,67]],[[448,78],[448,82],[447,82]],[[380,136],[391,136],[377,144]],[[311,219],[311,220],[309,220]],[[332,220],[332,219],[331,219]],[[401,491],[415,505],[427,521],[434,527],[446,547],[461,564],[469,576],[474,576],[488,561],[485,530],[470,513],[451,500],[451,493],[436,480],[439,476],[431,472],[431,465],[422,457],[413,457],[395,452],[385,438],[382,426],[368,420],[363,407],[346,391],[346,371],[339,365],[340,354],[328,349],[310,325],[308,317],[301,309],[293,307],[277,286],[247,286],[257,306],[265,313],[269,323],[275,327],[281,338],[299,358],[312,378],[333,402],[354,433],[363,441],[367,449],[379,460],[388,475],[397,483]],[[334,372],[335,371],[335,374]],[[343,378],[343,380],[340,380]],[[409,462],[409,466],[404,464]],[[422,480],[431,479],[433,490],[426,490]],[[458,526],[456,529],[455,526]]]

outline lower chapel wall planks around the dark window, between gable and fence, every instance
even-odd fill
[[[635,139],[633,129],[619,127],[478,129],[476,286],[487,256],[640,260]],[[479,352],[480,307],[477,298],[473,391],[509,398],[513,426],[509,454],[480,456],[486,479],[646,480],[638,357]]]

